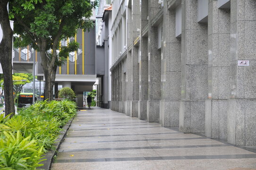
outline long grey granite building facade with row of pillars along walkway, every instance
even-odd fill
[[[113,0],[111,110],[256,145],[255,25],[255,0]]]

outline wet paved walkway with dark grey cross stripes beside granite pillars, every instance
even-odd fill
[[[256,153],[94,108],[79,111],[52,170],[256,170]]]

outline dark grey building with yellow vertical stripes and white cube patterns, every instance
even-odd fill
[[[70,87],[76,93],[78,107],[83,107],[84,92],[92,91],[96,82],[95,27],[91,28],[89,32],[77,30],[75,37],[61,41],[60,45],[67,46],[70,41],[78,42],[79,48],[77,51],[70,52],[64,64],[57,68],[54,95],[58,95],[59,85]],[[33,59],[35,59],[35,75],[40,81],[43,81],[44,74],[40,52],[35,51],[30,46],[14,49],[14,72],[33,73]],[[40,89],[43,93],[42,87]]]

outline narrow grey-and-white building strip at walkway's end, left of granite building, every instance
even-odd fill
[[[101,0],[97,11],[96,34],[96,68],[97,68],[97,105],[110,108],[111,103],[111,72],[112,53],[111,29],[112,24],[111,0]]]

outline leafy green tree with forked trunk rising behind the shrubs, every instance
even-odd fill
[[[76,51],[77,42],[61,47],[60,40],[74,37],[77,29],[88,30],[94,23],[89,20],[97,1],[91,0],[12,0],[9,16],[14,20],[15,47],[31,45],[40,51],[45,77],[46,99],[52,100],[57,67]],[[60,52],[58,53],[58,50]],[[47,52],[48,51],[48,52]],[[51,51],[51,52],[49,52]]]

